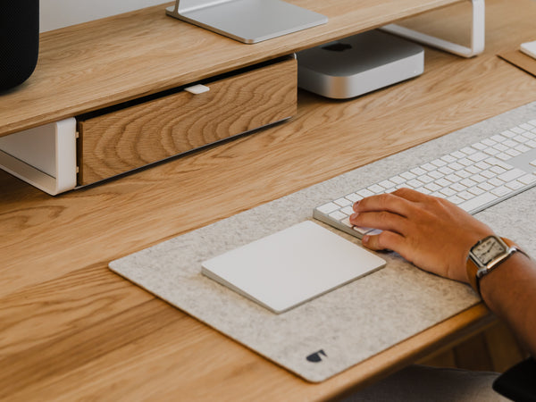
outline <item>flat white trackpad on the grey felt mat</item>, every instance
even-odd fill
[[[279,314],[373,272],[385,261],[306,221],[202,265],[209,278]]]

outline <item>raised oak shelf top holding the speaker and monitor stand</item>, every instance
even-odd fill
[[[166,16],[165,6],[171,3],[46,32],[40,38],[36,71],[21,87],[0,95],[0,136],[204,80],[459,1],[290,0],[323,13],[329,22],[253,46]]]

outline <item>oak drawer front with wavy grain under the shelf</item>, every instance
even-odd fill
[[[79,185],[281,121],[297,111],[297,62],[286,59],[79,121]]]

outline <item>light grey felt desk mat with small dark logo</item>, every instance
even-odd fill
[[[388,264],[380,271],[278,315],[205,278],[201,261],[312,219],[317,205],[532,119],[536,103],[127,255],[110,268],[290,372],[307,381],[323,381],[473,306],[479,298],[465,284],[423,272],[391,253],[381,254]],[[532,255],[535,191],[478,214]]]

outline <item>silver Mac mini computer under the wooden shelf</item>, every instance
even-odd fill
[[[370,30],[297,53],[297,86],[334,99],[360,96],[424,71],[424,49]]]

